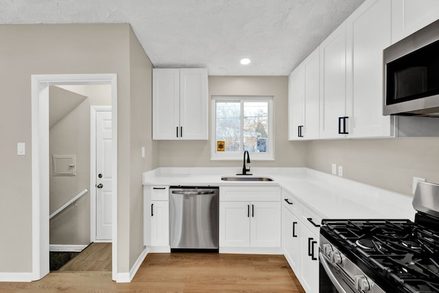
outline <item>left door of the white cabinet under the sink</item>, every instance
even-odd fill
[[[250,246],[250,202],[219,202],[219,247]]]

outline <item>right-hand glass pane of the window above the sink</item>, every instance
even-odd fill
[[[244,150],[268,152],[268,102],[244,102]]]

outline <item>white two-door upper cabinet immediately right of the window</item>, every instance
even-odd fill
[[[289,75],[289,140],[318,139],[319,80],[317,48]]]

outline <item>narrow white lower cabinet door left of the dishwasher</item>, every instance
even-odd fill
[[[169,246],[169,202],[151,202],[151,246]]]

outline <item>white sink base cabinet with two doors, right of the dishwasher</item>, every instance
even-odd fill
[[[268,253],[281,248],[280,198],[279,187],[221,187],[219,251]]]

